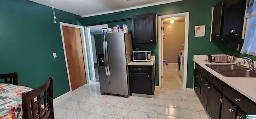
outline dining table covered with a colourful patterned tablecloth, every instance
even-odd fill
[[[22,93],[32,88],[0,84],[0,119],[22,119]]]

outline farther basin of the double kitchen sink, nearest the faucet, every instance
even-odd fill
[[[240,69],[244,70],[245,68],[241,66],[236,66],[235,64],[205,64],[206,66],[210,67],[213,70],[234,70],[234,69]]]

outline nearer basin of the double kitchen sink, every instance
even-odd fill
[[[216,70],[227,77],[256,77],[256,72],[251,70]]]

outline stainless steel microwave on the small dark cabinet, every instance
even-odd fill
[[[132,57],[134,62],[151,61],[151,51],[133,51]]]

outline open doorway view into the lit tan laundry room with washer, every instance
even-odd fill
[[[163,59],[165,61],[165,63],[163,63],[163,80],[165,81],[169,74],[171,74],[172,78],[175,76],[178,82],[183,84],[185,16],[164,18],[162,20],[162,49]],[[163,85],[165,85],[165,83]],[[176,87],[177,86],[178,85],[176,85]],[[183,85],[179,88],[183,89]]]

